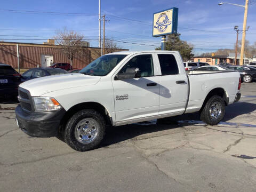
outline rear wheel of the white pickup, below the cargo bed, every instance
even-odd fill
[[[211,110],[212,106],[216,106],[215,105],[216,103],[218,105],[219,110],[215,110],[215,111],[219,111],[219,112],[216,112],[217,115],[214,117],[214,116],[211,115],[210,110]],[[217,107],[215,107],[215,109],[216,108]],[[212,114],[214,114],[214,113],[212,113]],[[225,115],[225,101],[220,96],[213,95],[205,103],[205,106],[204,106],[203,110],[201,111],[200,118],[207,125],[216,125],[222,120],[224,115]]]

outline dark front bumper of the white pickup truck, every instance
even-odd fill
[[[15,109],[19,128],[31,137],[54,137],[58,134],[60,121],[66,110],[27,113],[18,105]]]

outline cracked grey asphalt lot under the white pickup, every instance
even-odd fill
[[[15,123],[17,103],[2,101],[1,191],[255,191],[256,83],[241,92],[218,125],[195,113],[113,127],[83,153],[29,137]]]

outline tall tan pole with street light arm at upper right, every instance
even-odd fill
[[[218,5],[223,5],[226,2],[221,2]],[[242,46],[241,46],[241,59],[240,59],[240,65],[244,65],[244,45],[245,45],[245,33],[246,33],[246,22],[247,22],[247,12],[248,12],[248,3],[249,0],[245,0],[245,5],[238,5],[234,3],[226,3],[230,5],[235,5],[235,6],[241,6],[244,7],[244,23],[243,23],[243,37],[242,37]]]

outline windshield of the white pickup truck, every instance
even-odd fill
[[[103,55],[83,68],[81,71],[79,71],[79,73],[86,75],[105,76],[110,73],[110,71],[114,69],[114,67],[116,67],[116,65],[126,56],[127,55],[123,54]]]

